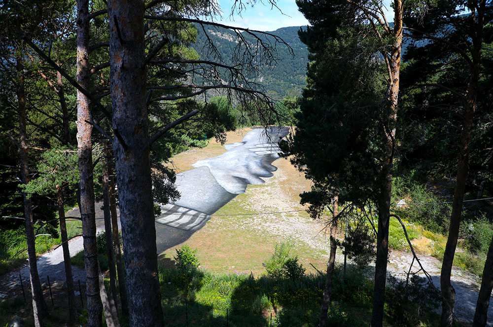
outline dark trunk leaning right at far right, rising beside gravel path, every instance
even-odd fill
[[[480,52],[481,53],[481,52]],[[481,55],[480,55],[481,56]],[[462,202],[464,200],[465,182],[469,172],[469,144],[471,142],[471,127],[476,110],[477,87],[479,81],[479,61],[475,65],[471,79],[467,87],[466,102],[464,105],[464,121],[460,136],[460,156],[457,165],[457,179],[454,190],[454,202],[450,216],[449,235],[443,255],[442,270],[440,272],[440,288],[442,292],[442,317],[441,325],[450,327],[453,324],[454,305],[456,291],[450,282],[452,264],[456,253],[459,234],[460,218],[462,215]]]

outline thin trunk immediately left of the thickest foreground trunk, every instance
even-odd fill
[[[113,156],[111,149],[105,148],[106,158]],[[108,162],[108,177],[109,177],[109,204],[111,212],[111,226],[113,232],[113,252],[115,254],[116,271],[118,273],[118,291],[120,293],[120,303],[122,307],[122,314],[128,316],[128,302],[127,302],[127,284],[125,283],[125,269],[123,269],[122,252],[120,249],[120,236],[118,235],[118,215],[116,211],[116,199],[115,199],[115,181],[113,176],[113,169]]]

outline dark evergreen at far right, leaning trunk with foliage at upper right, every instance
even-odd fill
[[[470,13],[461,14],[467,9]],[[425,19],[409,9],[407,30],[423,46],[409,49],[410,83],[425,90],[419,95],[428,99],[423,107],[446,109],[458,115],[458,164],[450,227],[440,275],[442,292],[442,326],[453,325],[455,290],[450,282],[462,215],[465,185],[469,173],[472,135],[482,74],[482,49],[485,26],[491,23],[492,2],[441,1],[428,8]],[[419,67],[419,73],[416,73]],[[464,76],[466,76],[464,78]],[[435,93],[436,97],[429,97]],[[455,120],[455,119],[454,119]],[[444,121],[442,119],[441,121]]]

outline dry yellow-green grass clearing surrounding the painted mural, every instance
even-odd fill
[[[228,133],[227,142],[241,142],[248,131],[250,129]],[[177,171],[185,171],[192,169],[191,164],[197,160],[223,152],[224,146],[211,140],[205,148],[194,148],[174,156],[173,165]],[[325,270],[329,242],[323,232],[317,235],[323,224],[309,218],[302,211],[304,207],[299,205],[299,194],[310,189],[310,182],[288,160],[278,159],[273,164],[278,167],[273,177],[265,179],[261,185],[248,185],[246,193],[239,194],[219,209],[186,241],[192,248],[200,249],[198,256],[203,267],[218,273],[236,270],[258,274],[263,272],[260,262],[272,254],[275,244],[293,238],[293,250],[299,254],[300,262],[311,272],[315,269],[310,263]],[[301,211],[256,215],[293,210]],[[160,264],[170,264],[175,249],[180,246],[161,254]]]

